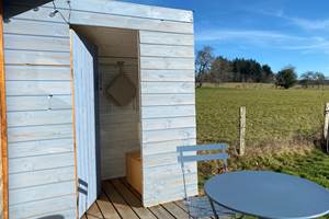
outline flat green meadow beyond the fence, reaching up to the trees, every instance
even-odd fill
[[[319,132],[325,90],[202,88],[196,90],[198,142],[236,145],[239,107],[247,107],[248,146],[287,143]]]

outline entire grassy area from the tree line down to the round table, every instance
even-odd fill
[[[314,147],[320,139],[328,90],[240,84],[196,90],[197,141],[228,142],[230,170],[273,170],[329,187],[329,157]],[[247,154],[235,153],[239,107],[247,106]],[[200,184],[211,175],[200,165]]]

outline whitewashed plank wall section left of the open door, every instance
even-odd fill
[[[4,23],[10,218],[77,212],[69,26],[50,11]]]

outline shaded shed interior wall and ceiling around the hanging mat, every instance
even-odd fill
[[[125,175],[125,154],[140,150],[139,77],[137,32],[118,28],[77,27],[99,49],[99,103],[102,180]],[[109,95],[109,84],[120,73],[117,61],[124,61],[125,73],[136,87],[136,96],[118,106]]]

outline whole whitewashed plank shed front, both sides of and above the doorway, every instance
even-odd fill
[[[20,1],[27,3],[5,10],[21,9]],[[71,24],[140,31],[144,204],[181,198],[175,148],[196,137],[192,12],[105,0],[72,0],[69,10],[66,0],[55,2]],[[69,26],[59,14],[49,18],[53,10],[47,3],[4,24],[9,205],[15,218],[76,215]],[[195,194],[195,165],[191,172]]]

